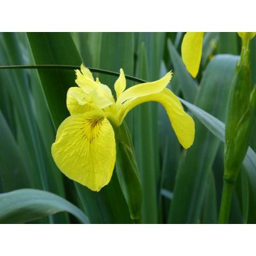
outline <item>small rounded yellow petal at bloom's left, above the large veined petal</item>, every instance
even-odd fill
[[[67,92],[67,108],[70,115],[91,111],[92,105],[86,104],[86,94],[79,87],[70,87]]]

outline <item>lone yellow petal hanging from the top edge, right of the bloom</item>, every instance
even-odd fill
[[[204,32],[188,32],[181,45],[182,60],[191,76],[196,77],[202,58]]]

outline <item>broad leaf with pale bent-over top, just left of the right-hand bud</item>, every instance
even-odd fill
[[[198,107],[221,120],[225,119],[227,96],[237,60],[236,56],[231,55],[216,56],[205,70],[196,98]],[[170,210],[171,223],[198,222],[207,179],[220,145],[220,141],[212,136],[198,120],[195,120],[195,131],[193,146],[181,160],[177,173]]]

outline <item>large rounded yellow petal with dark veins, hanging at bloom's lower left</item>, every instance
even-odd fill
[[[52,157],[61,172],[99,191],[109,183],[116,158],[115,134],[102,111],[72,115],[60,125]]]

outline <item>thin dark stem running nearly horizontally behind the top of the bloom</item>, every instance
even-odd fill
[[[0,69],[19,69],[19,68],[25,68],[25,69],[80,69],[79,66],[73,66],[73,65],[10,65],[10,66],[0,66]],[[89,67],[88,67],[89,68]],[[89,68],[92,72],[97,72],[101,74],[108,74],[111,76],[119,76],[118,72],[113,72],[101,68]],[[134,76],[128,76],[125,75],[125,77],[131,81],[135,81],[138,83],[147,83],[147,81],[134,77]]]

